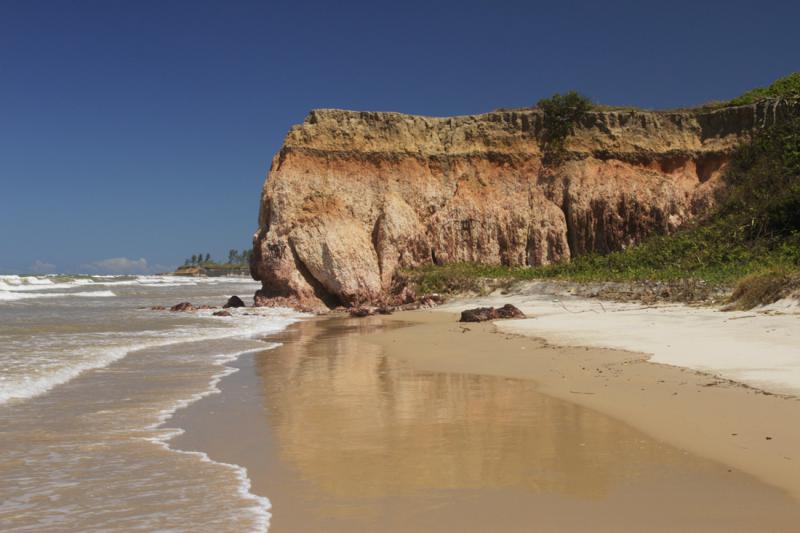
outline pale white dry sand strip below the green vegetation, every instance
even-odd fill
[[[554,344],[650,354],[655,363],[709,372],[779,394],[800,395],[800,313],[796,305],[724,312],[686,305],[644,306],[547,294],[524,285],[513,295],[453,301],[439,309],[512,303],[529,317],[497,322],[502,331]],[[775,309],[783,309],[775,313]]]

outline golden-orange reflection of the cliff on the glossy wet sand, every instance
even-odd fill
[[[308,321],[258,359],[279,454],[322,497],[515,488],[597,498],[678,455],[532,382],[411,370],[363,336],[379,324]]]

